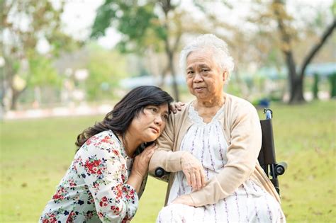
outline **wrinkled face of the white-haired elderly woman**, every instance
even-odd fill
[[[186,84],[200,100],[221,96],[226,72],[221,72],[211,51],[198,50],[186,57]]]

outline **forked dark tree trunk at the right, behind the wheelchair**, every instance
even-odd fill
[[[279,35],[281,37],[281,51],[284,54],[286,61],[286,67],[289,72],[289,88],[290,88],[290,99],[289,103],[301,103],[304,102],[303,98],[303,80],[305,77],[305,72],[308,64],[312,61],[313,57],[318,53],[320,48],[325,44],[327,38],[330,37],[332,31],[336,28],[335,16],[332,19],[330,25],[325,27],[322,35],[320,35],[320,40],[312,45],[305,57],[303,57],[303,62],[300,67],[296,65],[293,57],[293,50],[295,46],[293,41],[296,38],[296,33],[293,32],[289,20],[291,16],[286,11],[285,3],[282,0],[274,0],[271,4],[271,10],[274,12],[276,22],[278,24]]]

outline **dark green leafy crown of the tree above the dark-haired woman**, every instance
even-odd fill
[[[155,14],[155,1],[106,0],[97,11],[91,37],[104,35],[106,29],[114,26],[124,34],[118,49],[121,52],[140,52],[148,45],[159,47],[158,40],[167,37],[166,30]]]

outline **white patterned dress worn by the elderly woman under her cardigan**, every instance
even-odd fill
[[[211,122],[205,123],[194,107],[189,107],[193,125],[184,136],[180,150],[191,152],[201,161],[207,179],[217,175],[228,161],[228,143],[220,122],[223,115],[224,107]],[[186,183],[184,173],[179,171],[170,190],[168,205],[159,212],[157,222],[286,222],[279,202],[251,179],[242,183],[228,198],[213,205],[169,205],[175,198],[188,193],[191,193],[191,186]]]

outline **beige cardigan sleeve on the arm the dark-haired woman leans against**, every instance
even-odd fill
[[[154,152],[149,164],[149,173],[154,175],[157,167],[163,168],[167,172],[181,171],[181,157],[186,151],[173,151],[175,137],[175,122],[174,114],[169,115],[168,122],[162,135],[157,139],[158,149]]]

